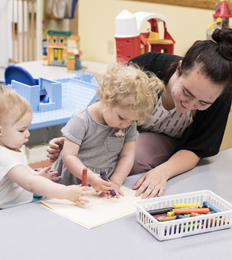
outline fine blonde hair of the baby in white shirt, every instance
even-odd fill
[[[0,87],[0,120],[12,110],[17,109],[15,121],[18,122],[27,112],[32,113],[30,103],[8,86]]]

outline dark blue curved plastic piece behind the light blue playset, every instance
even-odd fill
[[[22,67],[9,65],[5,70],[5,84],[11,84],[12,80],[17,80],[29,86],[38,85],[38,79],[34,79],[31,74]]]

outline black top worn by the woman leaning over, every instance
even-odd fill
[[[171,54],[148,52],[130,61],[138,64],[145,71],[154,72],[167,84],[176,70],[173,68],[169,71],[169,65],[176,59],[182,58]],[[224,135],[230,105],[230,95],[220,96],[206,110],[197,110],[193,123],[184,131],[173,154],[179,150],[192,151],[200,158],[217,154]]]

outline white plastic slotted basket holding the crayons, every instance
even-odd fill
[[[147,211],[172,207],[175,203],[207,201],[221,212],[159,222]],[[209,190],[135,201],[137,221],[159,241],[191,236],[232,226],[232,205]],[[220,220],[220,221],[219,221]]]

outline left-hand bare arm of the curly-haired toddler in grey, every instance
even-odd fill
[[[82,179],[82,170],[86,166],[77,158],[80,146],[69,139],[65,138],[62,160],[67,169],[77,178]],[[108,192],[112,190],[112,185],[102,180],[99,174],[88,169],[87,183],[89,183],[96,191]]]

